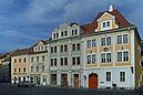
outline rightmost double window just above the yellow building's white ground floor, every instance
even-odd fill
[[[129,51],[118,52],[118,62],[129,61]]]

